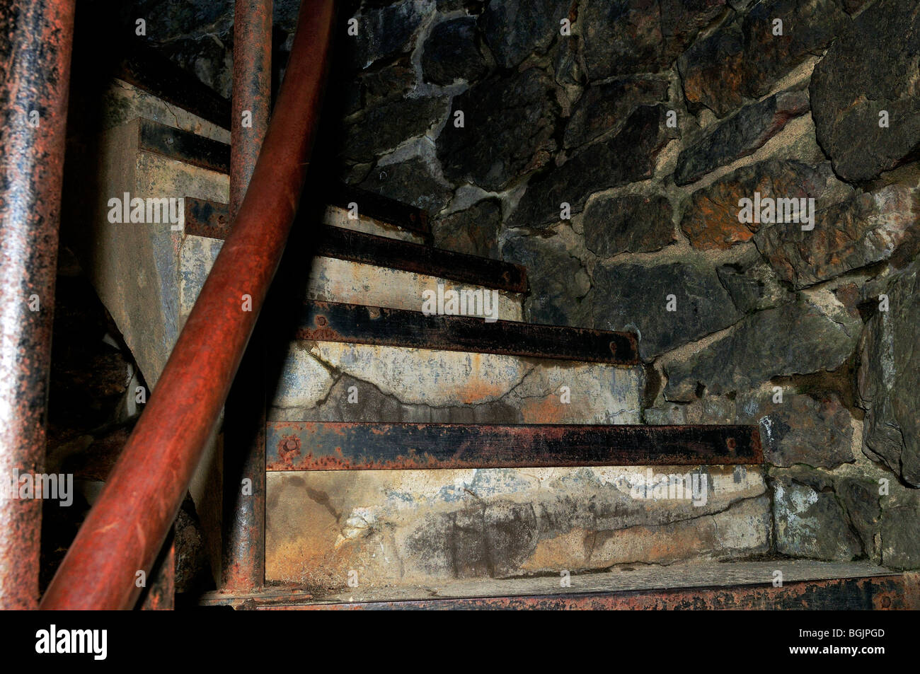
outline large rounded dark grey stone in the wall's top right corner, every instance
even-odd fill
[[[811,76],[818,142],[844,180],[911,161],[920,146],[920,6],[880,0],[853,20]],[[889,126],[880,127],[880,112]]]

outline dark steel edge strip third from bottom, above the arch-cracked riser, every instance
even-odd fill
[[[425,315],[420,311],[335,302],[304,303],[297,325],[294,337],[310,341],[495,353],[610,365],[638,365],[640,362],[637,338],[630,332],[540,326],[517,321],[487,323],[474,316]]]

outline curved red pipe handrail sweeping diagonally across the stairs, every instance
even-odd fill
[[[41,600],[126,609],[140,592],[224,405],[278,268],[316,136],[333,0],[304,0],[269,131],[231,234],[144,414]]]

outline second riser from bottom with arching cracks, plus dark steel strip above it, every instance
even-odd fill
[[[637,424],[634,336],[306,303],[272,421]]]

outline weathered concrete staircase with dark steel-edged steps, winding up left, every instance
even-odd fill
[[[109,96],[83,255],[153,387],[227,234],[228,138],[124,82]],[[109,222],[125,193],[182,197],[180,222]],[[316,250],[267,383],[266,590],[204,603],[580,608],[589,592],[605,608],[677,607],[635,593],[724,586],[748,588],[739,606],[802,605],[775,588],[788,560],[748,561],[773,537],[757,428],[642,425],[635,335],[526,323],[525,269],[434,248],[427,215],[406,205],[350,188],[324,196],[320,220],[294,225]],[[494,314],[429,315],[426,291],[494,291]],[[213,531],[219,446],[191,489]],[[827,581],[832,604],[839,587],[889,608],[882,594],[891,604],[891,588],[915,582],[797,564],[788,579]]]

